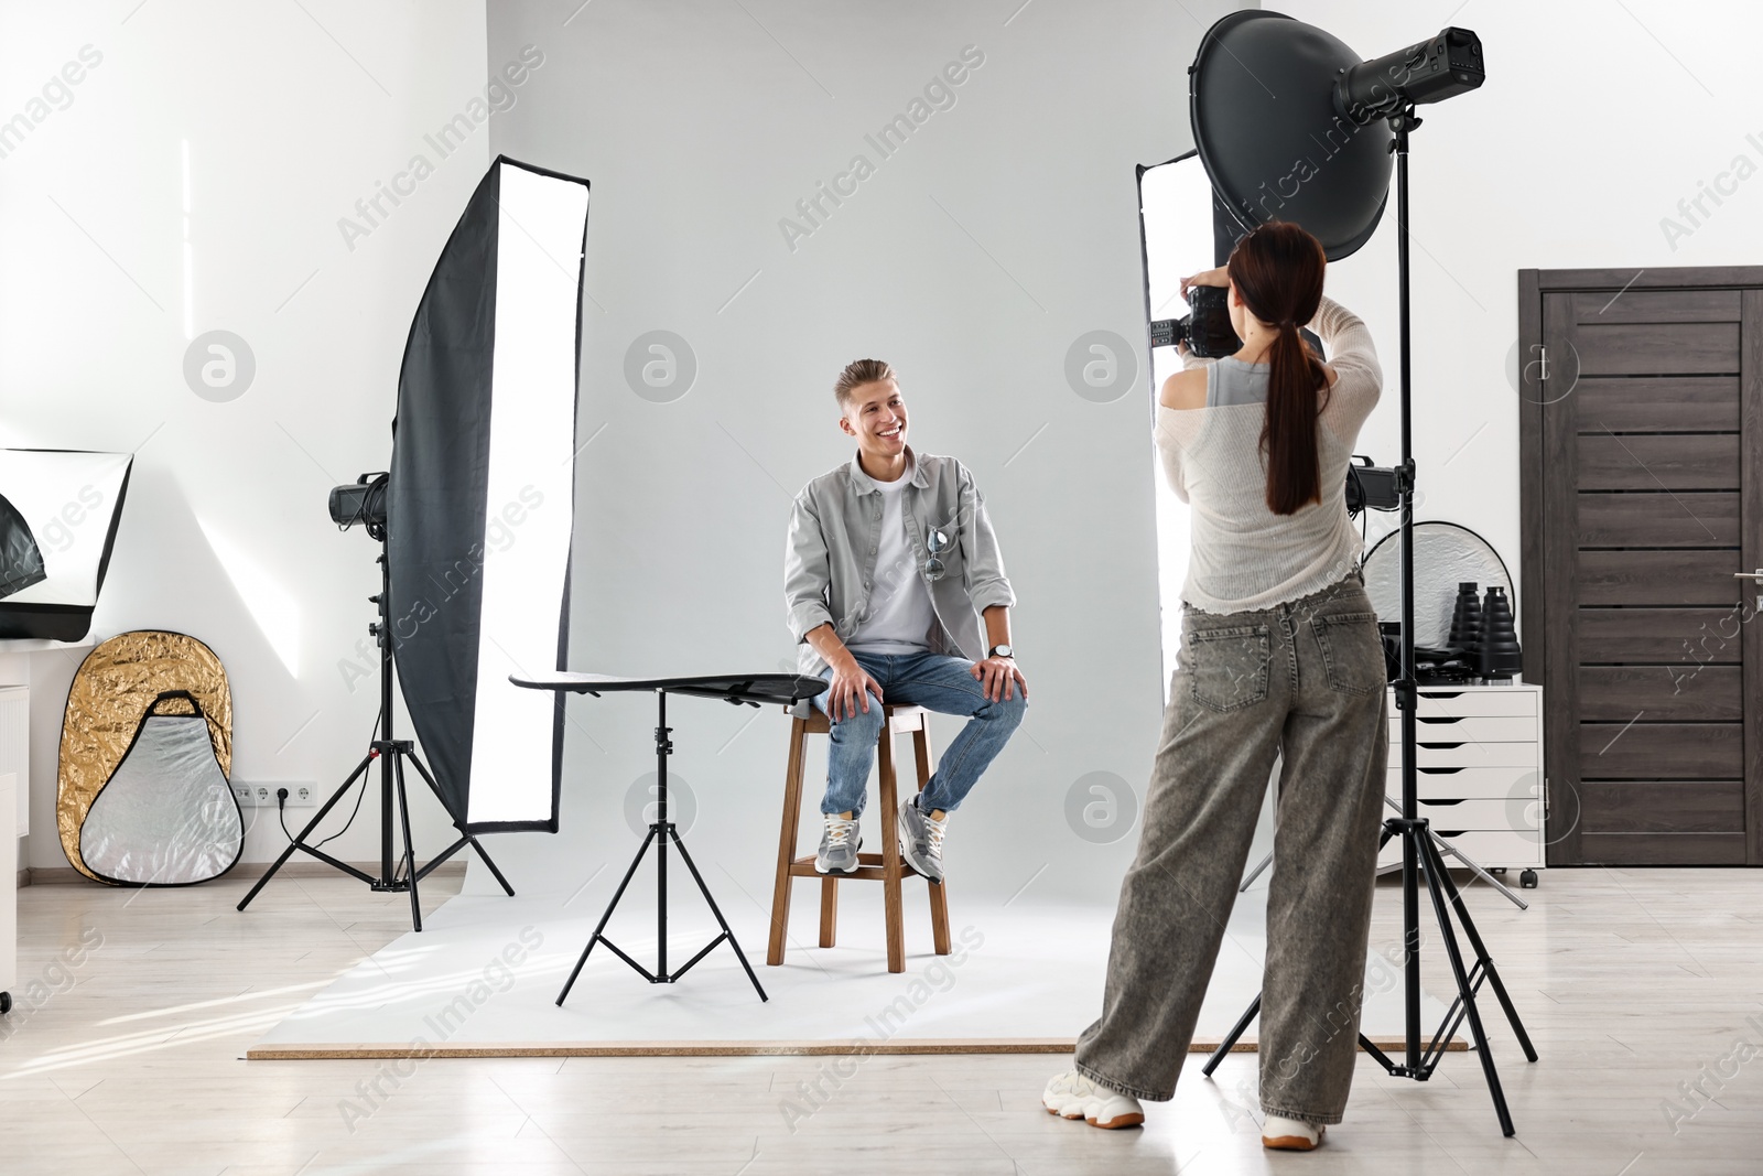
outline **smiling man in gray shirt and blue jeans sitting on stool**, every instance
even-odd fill
[[[1010,649],[1015,594],[973,474],[952,457],[906,444],[894,368],[857,360],[839,374],[834,395],[857,457],[795,495],[785,552],[785,605],[800,672],[830,682],[815,696],[832,726],[815,869],[857,869],[885,700],[968,718],[931,783],[899,809],[906,860],[940,883],[948,813],[1028,705]]]

